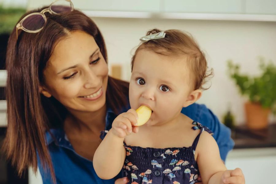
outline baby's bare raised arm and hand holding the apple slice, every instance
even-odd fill
[[[125,136],[131,132],[137,133],[138,114],[134,109],[129,109],[115,118],[112,128],[106,134],[102,143],[95,151],[93,166],[97,175],[102,179],[114,178],[122,169],[125,161]]]

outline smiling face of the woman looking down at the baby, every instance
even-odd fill
[[[68,110],[94,112],[105,105],[108,67],[93,36],[75,31],[60,40],[44,70],[40,92]]]

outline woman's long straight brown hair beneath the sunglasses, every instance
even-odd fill
[[[42,8],[44,9],[44,8]],[[42,9],[32,12],[40,12]],[[21,17],[25,17],[28,12]],[[39,93],[43,84],[43,71],[57,41],[68,31],[81,30],[92,35],[107,61],[105,42],[97,25],[80,11],[51,15],[39,33],[13,29],[7,47],[6,85],[8,127],[4,141],[7,158],[17,168],[18,174],[28,167],[37,168],[37,158],[45,171],[56,182],[51,156],[45,140],[49,128],[62,127],[67,110],[55,98]],[[106,102],[115,112],[127,105],[128,83],[109,77]]]

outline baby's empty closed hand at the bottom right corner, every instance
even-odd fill
[[[221,181],[223,184],[245,184],[244,175],[240,168],[224,171],[221,177]]]

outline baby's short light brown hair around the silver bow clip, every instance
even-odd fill
[[[147,32],[147,35],[159,33],[161,30],[152,29]],[[136,49],[131,61],[131,70],[133,69],[133,63],[137,53],[141,49],[147,49],[154,51],[157,54],[165,56],[181,56],[188,61],[188,66],[193,74],[194,90],[201,89],[207,90],[210,88],[204,88],[203,85],[207,82],[207,78],[213,76],[213,68],[207,71],[207,61],[204,53],[200,50],[196,41],[188,34],[176,30],[170,29],[164,31],[166,33],[165,38],[149,40],[141,43]]]

